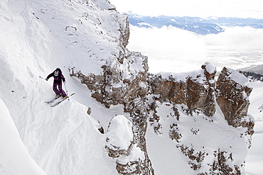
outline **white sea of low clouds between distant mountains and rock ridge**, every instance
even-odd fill
[[[197,35],[172,26],[131,26],[129,50],[149,56],[150,72],[186,72],[211,62],[220,70],[263,64],[263,29],[226,28],[225,32]]]

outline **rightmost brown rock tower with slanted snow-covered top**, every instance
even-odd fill
[[[247,78],[233,69],[224,67],[216,82],[216,101],[227,120],[235,128],[246,128],[242,137],[251,147],[254,120],[247,114],[252,88]]]

